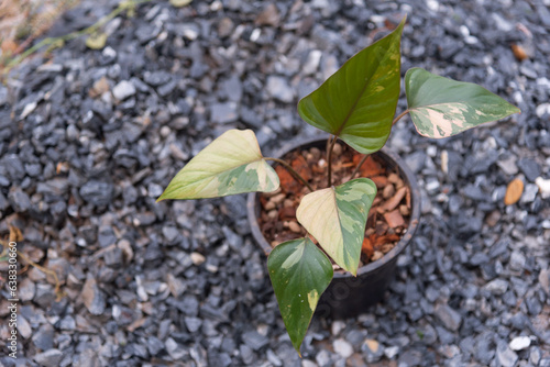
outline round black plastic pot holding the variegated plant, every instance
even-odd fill
[[[277,152],[275,157],[282,158],[288,152],[297,148],[308,149],[318,147],[324,149],[327,138],[310,138],[299,141],[294,144],[287,144]],[[420,191],[415,176],[395,153],[383,148],[374,154],[389,167],[398,167],[404,182],[410,189],[411,213],[407,233],[402,237],[397,245],[381,259],[362,266],[358,270],[358,276],[353,277],[350,273],[334,271],[334,278],[327,288],[317,307],[317,314],[320,316],[332,316],[334,319],[345,319],[355,316],[365,312],[366,308],[382,300],[396,269],[397,256],[407,247],[413,240],[418,226],[420,216]],[[273,249],[264,238],[257,218],[260,215],[260,200],[256,192],[249,194],[246,203],[249,222],[252,229],[252,235],[256,243],[268,255]]]

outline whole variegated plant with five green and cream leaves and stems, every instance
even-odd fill
[[[384,146],[392,126],[407,113],[421,135],[441,138],[519,112],[477,85],[413,68],[405,76],[408,109],[394,118],[404,25],[405,19],[298,103],[298,113],[307,123],[331,134],[327,144],[329,187],[305,196],[296,213],[308,236],[279,244],[267,259],[279,310],[298,353],[317,302],[333,276],[326,254],[352,275],[358,273],[366,219],[376,196],[376,186],[366,178],[332,186],[331,155],[337,138],[366,158]],[[263,157],[251,130],[230,130],[193,158],[158,200],[275,191],[279,180],[267,160],[284,165],[309,187],[288,163]]]

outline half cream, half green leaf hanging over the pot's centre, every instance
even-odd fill
[[[358,178],[338,187],[308,193],[296,211],[298,222],[311,233],[334,263],[358,274],[361,246],[376,185]]]

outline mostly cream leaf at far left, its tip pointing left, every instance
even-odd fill
[[[204,148],[172,179],[157,199],[201,199],[278,189],[252,130],[229,130]]]

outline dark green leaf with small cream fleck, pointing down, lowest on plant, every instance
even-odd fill
[[[290,342],[298,353],[317,302],[332,279],[327,255],[308,237],[277,245],[267,269]]]

